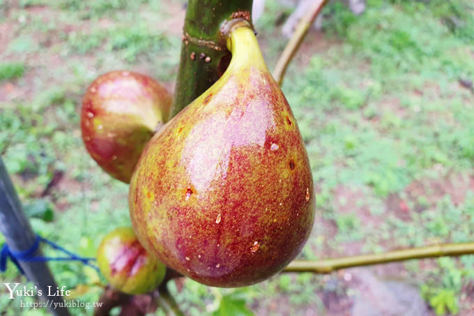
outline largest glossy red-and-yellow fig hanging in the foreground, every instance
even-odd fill
[[[231,31],[229,67],[144,149],[130,181],[132,225],[167,266],[205,285],[277,273],[314,222],[298,125],[252,29]]]

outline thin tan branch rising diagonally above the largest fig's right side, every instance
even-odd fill
[[[303,17],[298,23],[293,36],[291,36],[288,44],[284,48],[280,58],[277,61],[277,65],[275,66],[275,70],[273,70],[273,78],[275,81],[282,86],[283,78],[286,73],[286,68],[288,68],[291,59],[295,56],[296,52],[300,48],[301,43],[305,39],[306,34],[308,33],[309,27],[313,24],[316,17],[321,12],[323,6],[328,2],[328,0],[316,0],[314,1],[314,5],[308,11],[308,14]]]

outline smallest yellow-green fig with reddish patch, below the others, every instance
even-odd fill
[[[165,278],[165,264],[146,252],[132,227],[117,228],[102,239],[97,263],[110,285],[127,294],[151,292]]]

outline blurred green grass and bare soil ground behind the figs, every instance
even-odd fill
[[[293,8],[267,0],[256,22],[270,69]],[[173,90],[184,14],[177,0],[0,0],[0,153],[36,232],[94,256],[102,236],[130,225],[128,186],[102,172],[82,144],[80,100],[95,77],[116,69]],[[332,2],[323,14],[282,87],[317,191],[300,258],[474,241],[472,1],[367,0],[359,16]],[[98,300],[105,281],[93,269],[51,267],[73,289],[70,299]],[[0,280],[22,277],[10,264]],[[426,315],[474,313],[474,256],[286,273],[241,289],[192,280],[169,288],[186,315],[363,315],[356,310],[370,306],[368,292],[400,296],[393,280],[415,291],[407,306],[422,298]],[[20,308],[4,291],[0,315],[47,314]]]

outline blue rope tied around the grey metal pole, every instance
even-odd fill
[[[36,250],[38,250],[40,243],[46,243],[51,248],[59,250],[62,253],[65,253],[66,255],[68,255],[68,257],[36,256],[35,253],[36,253]],[[49,241],[40,235],[36,235],[36,239],[33,245],[31,245],[29,249],[24,250],[24,251],[13,251],[10,248],[8,248],[7,243],[4,243],[0,252],[0,272],[1,273],[6,271],[6,264],[8,262],[8,259],[10,259],[10,261],[13,262],[15,266],[17,266],[18,271],[20,271],[20,273],[22,274],[24,274],[24,271],[22,269],[22,266],[20,265],[20,262],[79,261],[79,262],[82,262],[82,264],[85,264],[86,266],[91,266],[96,271],[99,271],[97,266],[95,266],[94,264],[91,264],[91,261],[95,261],[95,258],[81,257],[79,255],[76,255],[75,253],[71,253],[69,250],[64,249],[58,244],[53,243],[52,241]]]

